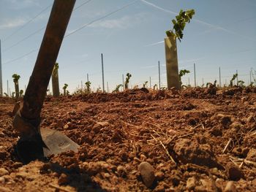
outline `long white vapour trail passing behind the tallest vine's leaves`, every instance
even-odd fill
[[[154,7],[154,8],[156,8],[156,9],[162,10],[162,11],[164,11],[164,12],[170,13],[170,14],[172,14],[172,15],[178,15],[178,12],[173,12],[173,11],[171,11],[171,10],[164,9],[164,8],[159,7],[159,6],[157,6],[156,4],[152,4],[152,3],[150,3],[150,2],[148,2],[148,1],[146,1],[146,0],[140,0],[140,1],[142,1],[144,4],[147,4],[147,5],[151,6],[151,7]],[[222,26],[217,26],[217,25],[214,25],[214,24],[211,24],[211,23],[207,23],[207,22],[205,22],[205,21],[203,21],[203,20],[195,19],[195,18],[193,19],[193,21],[195,21],[195,22],[197,22],[197,23],[200,23],[200,24],[203,24],[204,26],[210,27],[210,28],[211,28],[211,31],[214,31],[214,30],[221,30],[221,31],[225,31],[225,32],[228,33],[228,34],[234,34],[234,35],[237,35],[237,36],[239,36],[239,37],[243,37],[244,39],[249,39],[249,40],[252,40],[252,41],[254,41],[254,42],[256,41],[255,39],[253,39],[253,38],[251,38],[251,37],[246,37],[246,36],[243,35],[243,34],[238,34],[238,33],[234,32],[234,31],[230,31],[230,30],[228,30],[227,28],[223,28]],[[209,32],[209,31],[207,31],[207,32]]]

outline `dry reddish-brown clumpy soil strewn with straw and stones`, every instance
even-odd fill
[[[79,152],[26,165],[14,104],[0,98],[0,191],[256,191],[255,88],[48,97],[41,128]]]

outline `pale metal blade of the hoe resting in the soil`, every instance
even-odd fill
[[[58,155],[59,153],[72,150],[78,152],[79,145],[73,142],[69,137],[50,128],[41,128],[42,140],[48,147],[43,147],[44,156]]]

